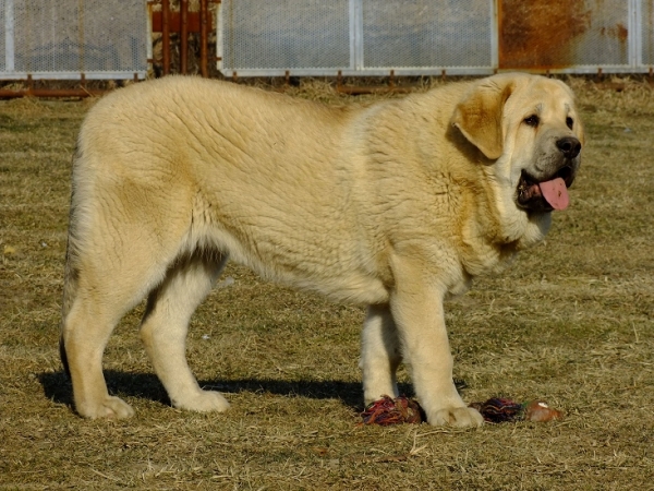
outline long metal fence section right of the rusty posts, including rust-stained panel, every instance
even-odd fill
[[[227,76],[643,73],[654,0],[222,0]]]

